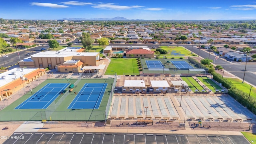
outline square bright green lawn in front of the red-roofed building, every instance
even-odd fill
[[[138,75],[139,68],[135,58],[111,58],[111,62],[105,74]]]

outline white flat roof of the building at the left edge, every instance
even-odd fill
[[[24,77],[24,75],[36,70],[38,68],[14,68],[12,70],[8,70],[7,72],[3,72],[0,74],[0,87],[20,78],[20,76]],[[14,72],[14,74],[12,74]],[[5,76],[5,79],[3,79]]]

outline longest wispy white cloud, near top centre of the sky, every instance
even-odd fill
[[[92,6],[93,8],[100,8],[100,9],[107,9],[107,10],[130,10],[133,8],[142,8],[143,6],[118,6],[113,3],[100,3],[95,6]]]

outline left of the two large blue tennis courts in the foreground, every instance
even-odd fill
[[[46,109],[69,86],[69,83],[48,83],[14,109]]]

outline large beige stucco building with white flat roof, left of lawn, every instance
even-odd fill
[[[71,60],[75,60],[77,63],[73,63],[74,61],[72,62]],[[56,69],[56,67],[69,65],[69,63],[72,62],[71,65],[78,66],[77,68],[82,68],[83,66],[96,66],[98,61],[100,61],[99,52],[77,52],[76,48],[64,48],[57,52],[44,51],[33,54],[30,58],[19,61],[19,65],[20,67]],[[80,69],[77,69],[77,71],[70,71],[78,72],[79,70]],[[66,72],[70,71],[67,70]]]

